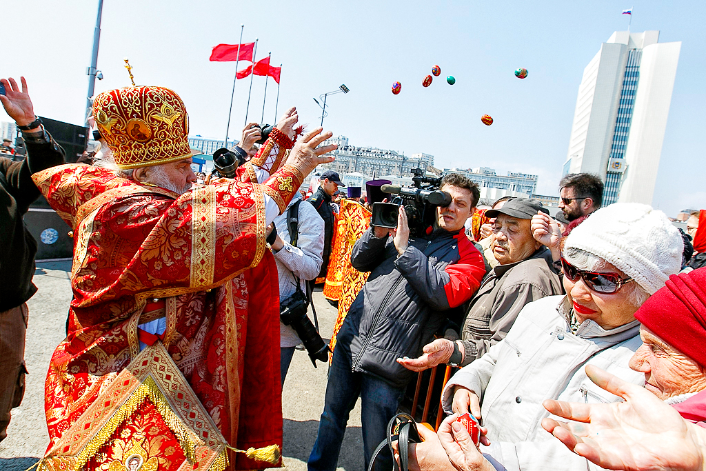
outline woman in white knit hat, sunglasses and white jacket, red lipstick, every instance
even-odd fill
[[[585,469],[584,458],[542,429],[542,401],[620,400],[587,378],[586,365],[642,386],[643,375],[628,367],[641,343],[635,311],[678,272],[682,249],[677,229],[650,206],[597,210],[563,246],[566,296],[527,304],[504,340],[451,378],[444,409],[482,419],[491,442],[483,452],[507,470]],[[410,447],[412,464],[416,458],[421,469],[454,469],[438,439],[425,440]],[[467,469],[492,469],[472,453]]]

